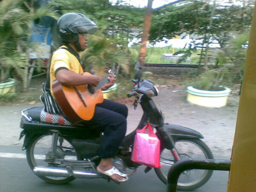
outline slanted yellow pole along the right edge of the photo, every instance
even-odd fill
[[[227,192],[256,192],[256,9],[250,29]]]

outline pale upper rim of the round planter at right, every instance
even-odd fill
[[[219,86],[223,87],[223,86]],[[231,89],[228,87],[223,87],[224,90],[220,91],[208,91],[208,90],[199,90],[195,89],[192,86],[187,87],[187,92],[192,94],[192,95],[197,95],[197,96],[204,96],[204,97],[222,97],[222,96],[228,96],[230,95]]]

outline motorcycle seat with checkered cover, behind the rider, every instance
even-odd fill
[[[47,122],[52,124],[59,124],[59,125],[75,125],[69,120],[67,120],[61,114],[52,114],[44,111],[43,107],[33,107],[30,108],[28,111],[29,116],[39,122]]]

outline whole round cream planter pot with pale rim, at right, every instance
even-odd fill
[[[222,86],[220,86],[222,87]],[[227,97],[230,95],[230,88],[223,87],[220,91],[207,91],[187,87],[187,101],[204,107],[220,108],[227,105]]]

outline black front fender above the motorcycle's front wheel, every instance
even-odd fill
[[[195,138],[195,139],[204,138],[203,135],[198,131],[195,131],[190,128],[182,127],[179,125],[172,125],[172,124],[166,123],[163,125],[163,127],[172,136],[173,140],[177,140],[178,138]]]

